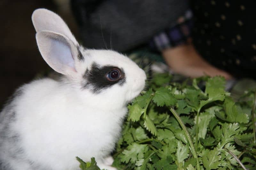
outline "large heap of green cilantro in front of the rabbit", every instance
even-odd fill
[[[235,102],[222,77],[175,83],[168,74],[156,75],[149,87],[128,106],[113,166],[256,169],[255,91]]]

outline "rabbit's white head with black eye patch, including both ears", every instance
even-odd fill
[[[124,107],[144,88],[146,74],[132,60],[112,50],[81,47],[65,22],[52,11],[37,9],[32,21],[46,63],[63,74],[63,84],[79,90],[78,95],[86,97],[89,104]]]

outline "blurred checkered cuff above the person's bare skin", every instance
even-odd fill
[[[186,11],[185,15],[178,19],[177,25],[156,34],[150,41],[150,47],[153,50],[163,51],[186,43],[193,26],[192,16],[192,11]]]

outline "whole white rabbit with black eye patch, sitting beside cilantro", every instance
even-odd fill
[[[37,9],[32,21],[41,55],[63,77],[21,86],[4,107],[0,169],[79,169],[76,156],[116,169],[110,153],[127,104],[144,88],[145,72],[115,51],[79,46],[52,11]]]

